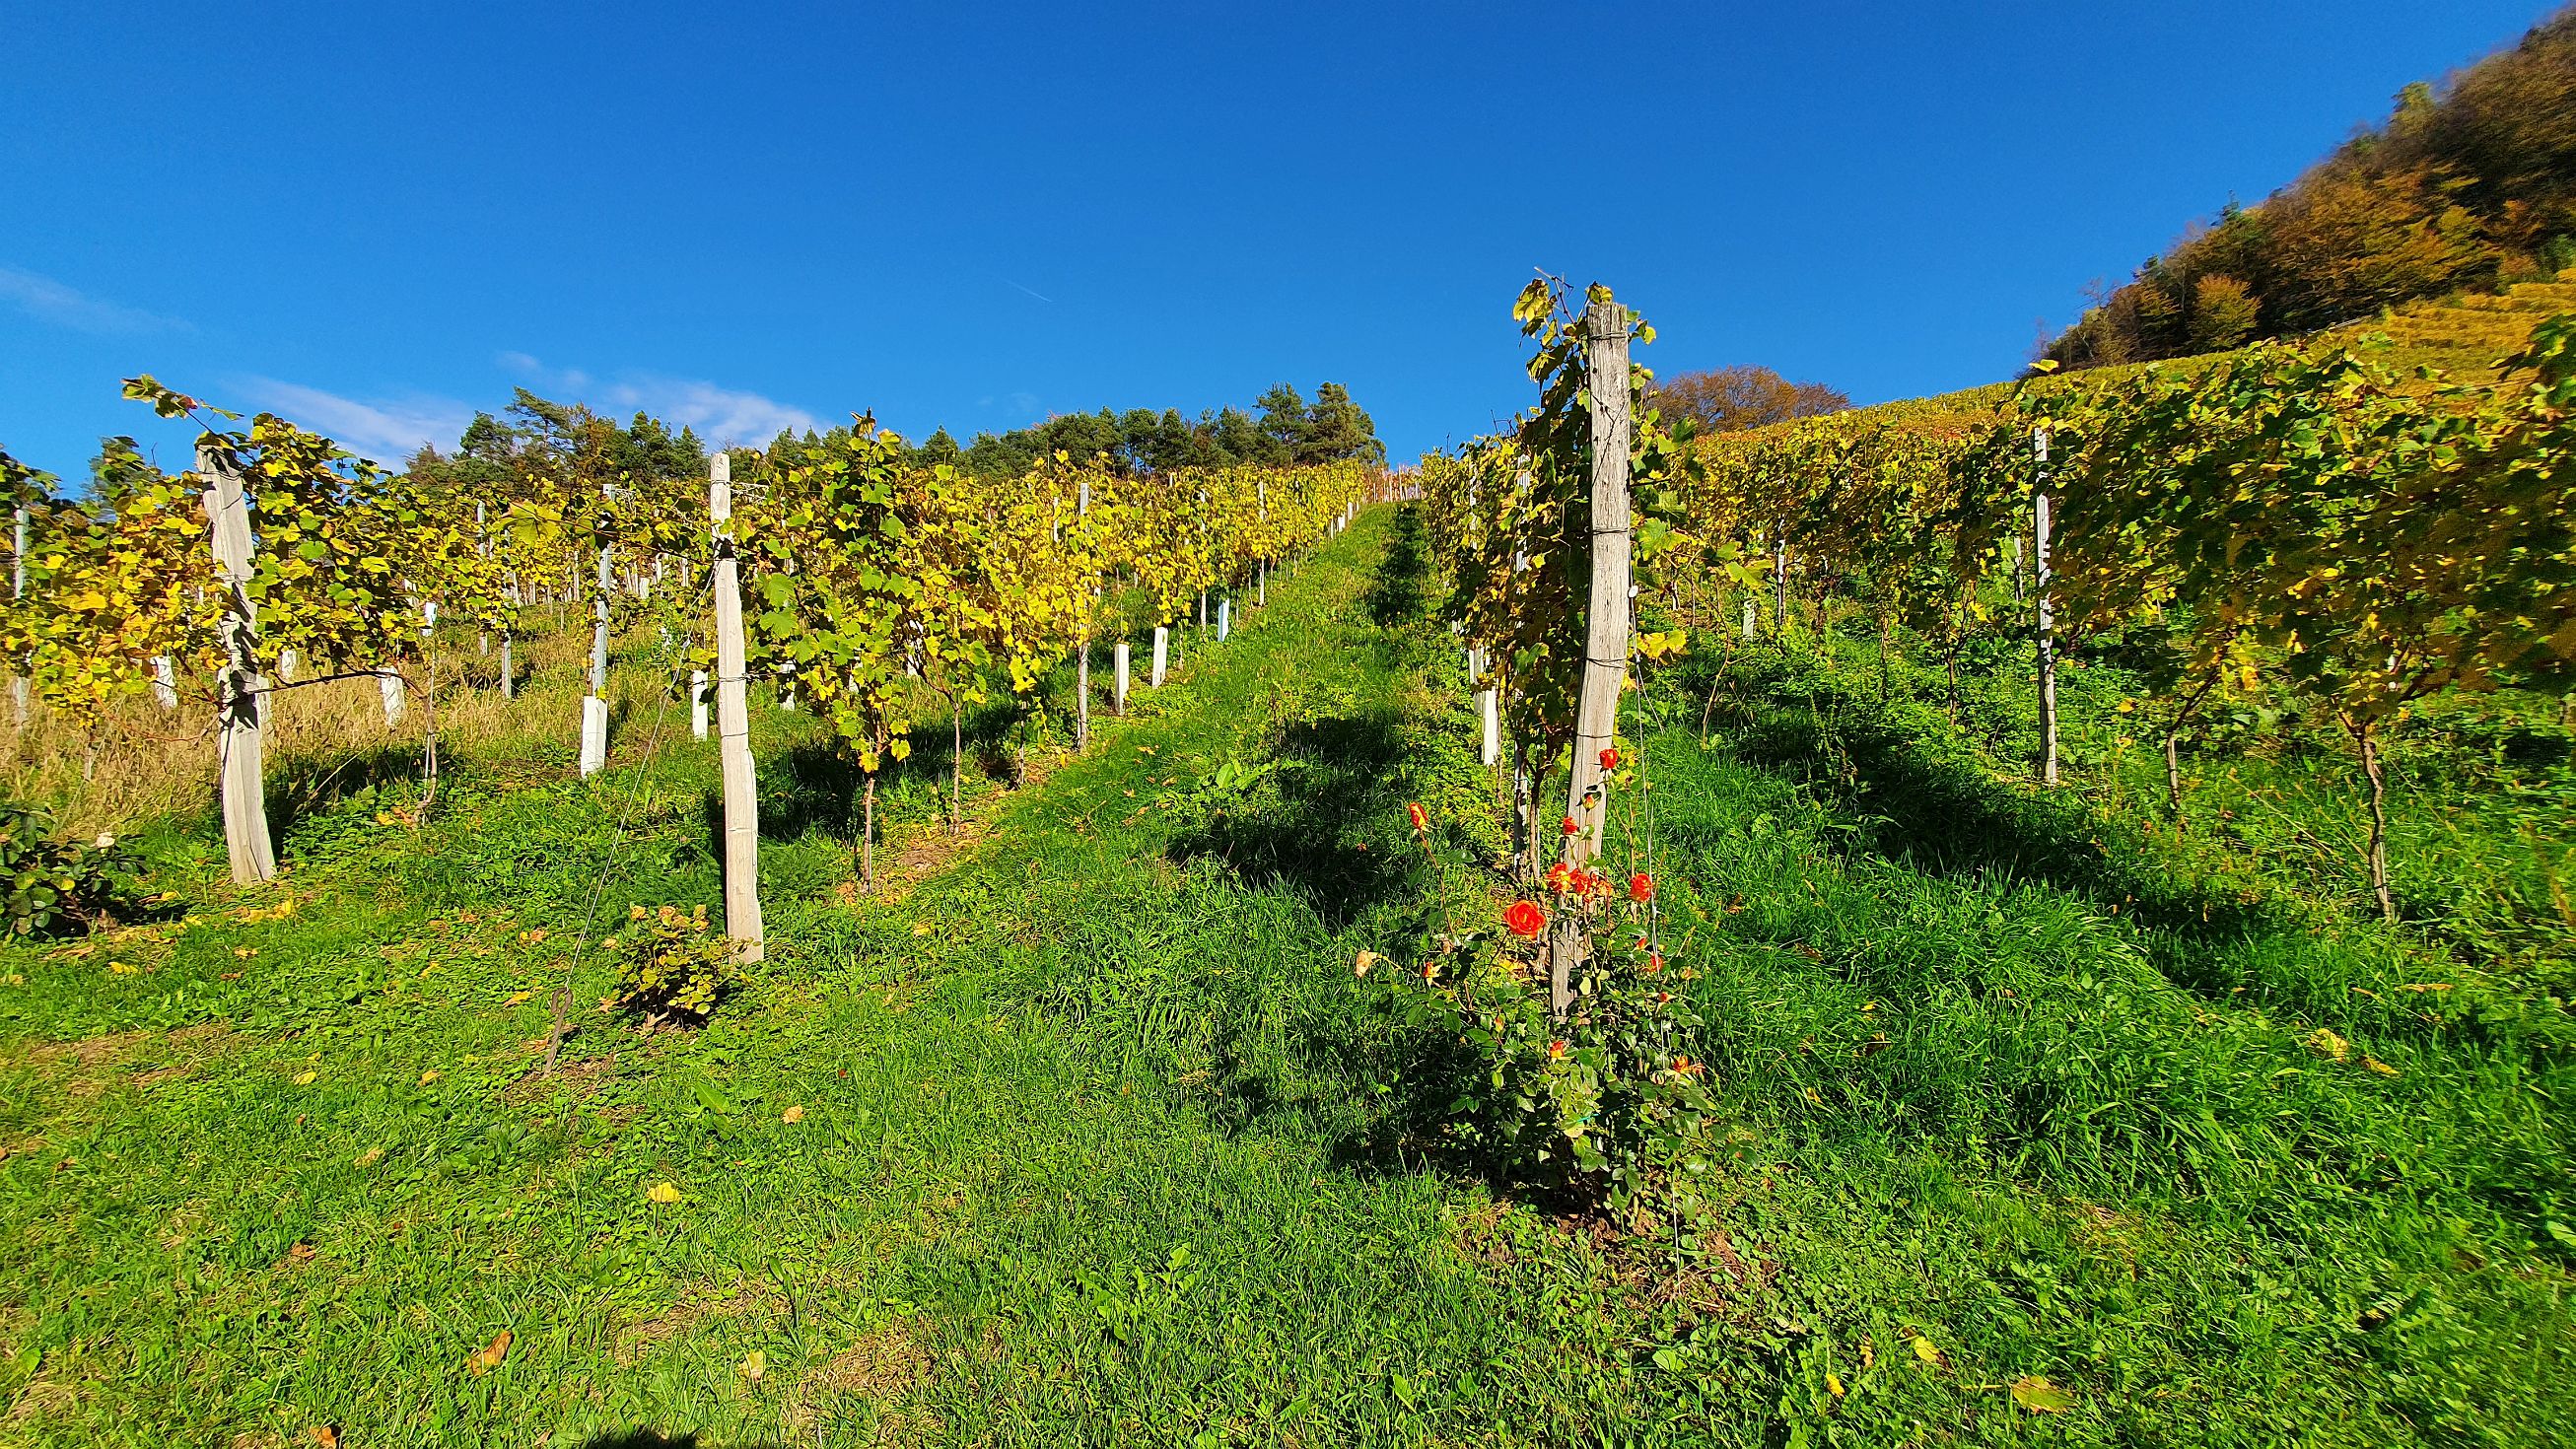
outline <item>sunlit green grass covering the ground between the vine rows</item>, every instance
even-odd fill
[[[216,880],[204,821],[149,831],[188,916],[0,957],[0,1436],[2566,1434],[2563,1009],[2514,973],[2445,1022],[2354,996],[2465,937],[2148,834],[2099,775],[2035,798],[1850,672],[1747,672],[1713,744],[1708,679],[1641,697],[1723,1238],[1479,1174],[1455,1042],[1350,965],[1440,909],[1404,800],[1502,844],[1417,569],[1363,517],[1084,759],[976,777],[971,839],[878,898],[845,888],[848,772],[755,710],[770,960],[698,1032],[598,1011],[574,945],[719,898],[677,721],[652,746],[631,710],[587,785],[461,741],[417,831],[376,821],[399,780],[314,793],[270,891]],[[945,723],[889,788],[912,839]],[[2074,1408],[2014,1408],[2022,1374]]]

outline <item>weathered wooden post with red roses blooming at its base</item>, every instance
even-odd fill
[[[1595,301],[1584,309],[1584,373],[1592,394],[1592,597],[1584,610],[1584,682],[1574,708],[1574,759],[1566,772],[1566,865],[1589,865],[1610,824],[1610,780],[1602,752],[1618,739],[1618,695],[1628,679],[1628,309]],[[1574,1006],[1574,957],[1582,929],[1571,911],[1556,919],[1548,952],[1548,1009],[1561,1022]]]

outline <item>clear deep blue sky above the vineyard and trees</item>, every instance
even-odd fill
[[[2535,0],[0,10],[0,448],[374,456],[513,383],[724,440],[1342,381],[1396,458],[1528,396],[1512,293],[1659,371],[1991,381]]]

